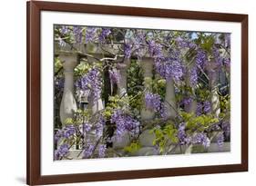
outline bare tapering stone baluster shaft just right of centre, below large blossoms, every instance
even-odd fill
[[[166,80],[165,107],[168,118],[176,117],[177,104],[175,101],[175,88],[174,81],[172,78]]]

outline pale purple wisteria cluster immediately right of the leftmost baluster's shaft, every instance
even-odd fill
[[[96,102],[101,95],[101,74],[97,68],[92,68],[75,83],[78,90],[89,92],[89,99]]]

